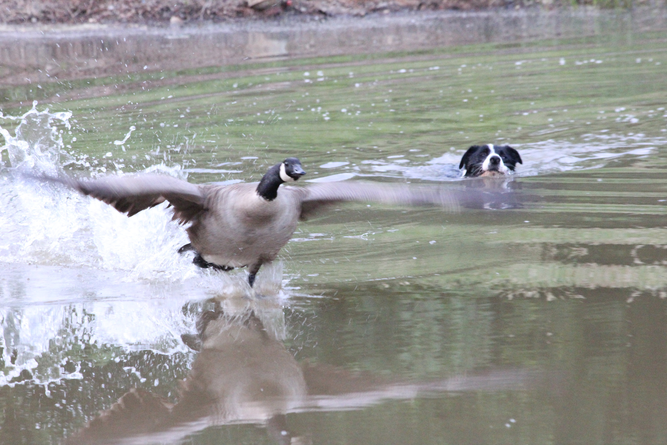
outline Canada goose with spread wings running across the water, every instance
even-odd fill
[[[270,167],[259,183],[195,185],[167,175],[107,176],[95,180],[42,177],[63,183],[85,195],[113,205],[132,216],[163,201],[173,207],[173,219],[187,228],[190,243],[179,252],[193,250],[193,262],[203,268],[229,271],[248,267],[248,283],[262,264],[273,261],[289,242],[299,219],[322,205],[341,201],[436,205],[458,209],[473,191],[444,187],[382,184],[361,181],[313,183],[287,186],[305,171],[301,161],[288,157]],[[479,193],[477,193],[478,195]]]

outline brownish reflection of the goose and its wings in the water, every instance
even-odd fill
[[[178,403],[129,390],[67,443],[174,443],[209,426],[255,424],[275,444],[309,444],[307,436],[287,428],[285,414],[360,409],[444,392],[522,390],[538,378],[535,370],[506,369],[408,382],[299,363],[279,339],[281,308],[227,312],[215,302],[199,315],[197,334],[182,336],[197,356],[180,383]]]

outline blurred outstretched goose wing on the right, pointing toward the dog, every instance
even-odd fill
[[[462,205],[479,199],[479,193],[453,187],[383,184],[364,181],[316,183],[303,187],[301,218],[323,205],[345,201],[400,205],[434,205],[458,211]]]

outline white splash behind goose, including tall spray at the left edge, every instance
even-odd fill
[[[3,168],[9,173],[60,173],[74,160],[63,151],[62,130],[55,124],[69,128],[71,116],[69,111],[38,111],[36,101],[20,117],[2,116],[19,121],[14,136],[0,127],[6,142],[3,149],[9,153],[9,165]],[[149,171],[185,177],[179,165],[153,165]],[[160,271],[168,277],[167,271],[174,269],[180,278],[194,273],[175,254],[187,236],[164,208],[127,218],[99,201],[15,174],[6,175],[2,183],[0,205],[0,224],[6,228],[0,262],[125,270],[133,278],[151,272],[160,276]]]

